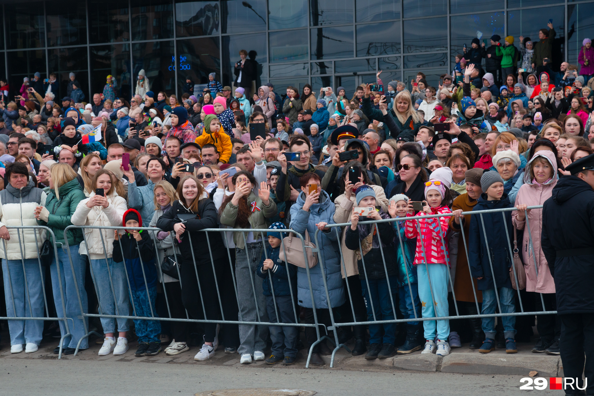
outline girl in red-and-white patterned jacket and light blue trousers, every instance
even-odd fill
[[[425,183],[424,209],[414,215],[409,202],[408,216],[425,216],[451,213],[442,202],[450,201],[450,190],[443,181],[431,179]],[[421,299],[422,317],[445,317],[449,315],[447,302],[447,284],[449,256],[446,232],[448,216],[407,220],[406,238],[416,238],[415,265],[418,277],[419,299]],[[420,229],[420,235],[419,235]],[[425,349],[421,353],[437,353],[446,356],[450,353],[450,322],[448,320],[424,321]],[[437,344],[435,338],[437,337]]]

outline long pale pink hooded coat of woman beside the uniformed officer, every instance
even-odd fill
[[[528,206],[543,205],[552,196],[552,190],[557,185],[557,172],[555,172],[557,160],[553,152],[548,150],[536,152],[534,157],[528,162],[526,170],[530,169],[532,162],[536,158],[544,158],[549,162],[553,177],[544,184],[538,184],[535,180],[530,179],[530,172],[526,171],[524,173],[524,184],[520,187],[516,195],[514,207],[524,204]],[[517,210],[514,210],[511,216],[514,226],[517,229],[525,230],[522,245],[518,245],[518,248],[522,251],[522,261],[524,263],[524,270],[526,271],[526,291],[554,293],[555,282],[551,276],[551,271],[546,263],[546,258],[541,247],[542,209],[532,209],[526,213],[530,231],[528,231],[528,226],[526,226],[526,219],[523,221],[518,220]],[[536,274],[537,270],[538,275]]]

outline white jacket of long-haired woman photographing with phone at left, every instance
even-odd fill
[[[108,207],[87,206],[89,199],[95,193],[91,193],[89,198],[78,203],[74,214],[72,214],[72,225],[96,225],[96,226],[121,226],[124,212],[128,209],[126,200],[118,195],[115,191],[110,194],[108,198]],[[108,250],[108,258],[112,257],[113,253],[113,229],[98,229],[85,228],[84,234],[87,242],[89,242],[89,253],[87,253],[86,243],[83,241],[78,250],[79,254],[88,254],[91,260],[100,260],[105,258],[103,250],[103,243]],[[101,235],[103,235],[103,243],[101,242]]]

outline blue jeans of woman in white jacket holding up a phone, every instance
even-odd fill
[[[130,298],[124,261],[114,263],[112,258],[108,258],[108,263],[109,272],[104,258],[91,260],[91,274],[97,288],[97,299],[99,299],[101,313],[104,315],[128,316],[130,314]],[[109,281],[110,273],[111,282]],[[113,298],[114,292],[115,301]],[[117,321],[118,331],[130,330],[127,319],[117,318]],[[115,331],[115,322],[116,319],[114,318],[101,318],[103,333],[113,333]]]

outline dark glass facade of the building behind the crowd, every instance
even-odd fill
[[[585,37],[594,38],[594,1],[570,0],[66,0],[1,1],[0,76],[10,94],[24,77],[69,72],[87,96],[113,75],[129,98],[140,69],[152,91],[179,92],[185,78],[206,83],[216,73],[232,85],[239,50],[253,51],[258,82],[284,93],[293,85],[343,86],[406,81],[418,71],[437,87],[466,44],[492,34],[538,40],[552,20],[553,62],[577,65]],[[1,58],[0,58],[1,59]],[[555,65],[553,66],[555,68]]]

